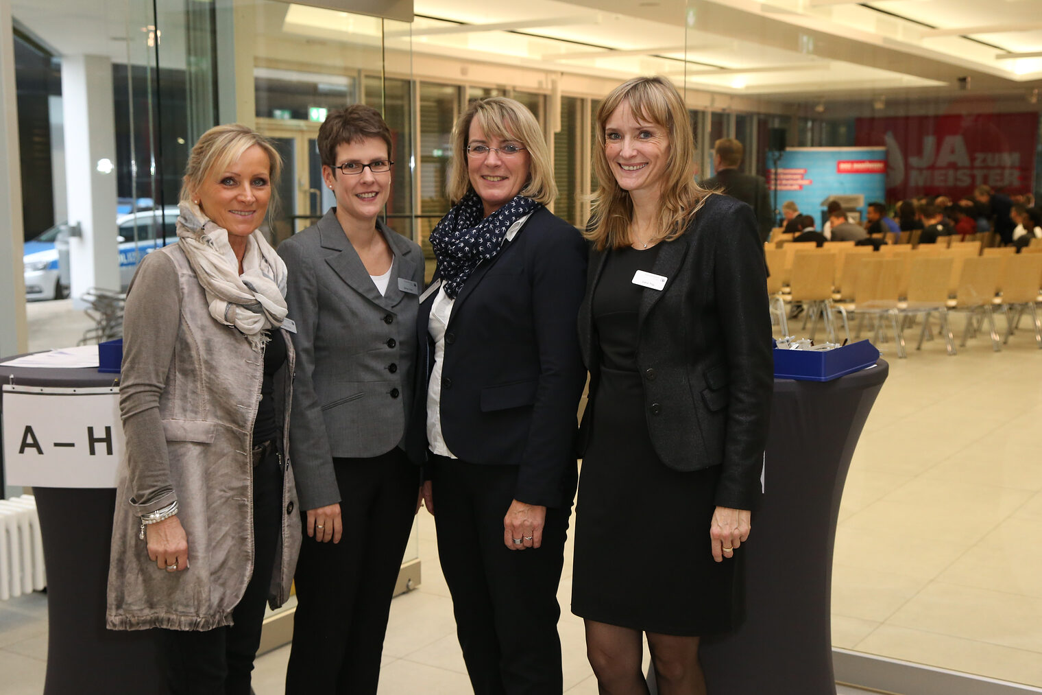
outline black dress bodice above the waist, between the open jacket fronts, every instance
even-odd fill
[[[651,271],[661,245],[644,250],[626,246],[607,256],[593,295],[593,320],[601,365],[609,369],[637,372],[637,312],[644,287],[634,284],[634,275]]]

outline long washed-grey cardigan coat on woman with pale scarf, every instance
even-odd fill
[[[108,569],[110,629],[208,630],[231,624],[253,573],[253,421],[264,358],[242,333],[209,315],[178,244],[142,261],[128,290],[120,412],[120,466]],[[292,402],[295,355],[276,377]],[[283,433],[289,408],[283,407]],[[283,451],[289,451],[283,434]],[[286,462],[282,529],[270,601],[286,602],[300,550],[300,514]],[[177,500],[190,569],[164,572],[139,540],[140,514]]]

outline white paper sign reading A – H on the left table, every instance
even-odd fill
[[[8,485],[116,487],[123,457],[118,387],[3,386]]]

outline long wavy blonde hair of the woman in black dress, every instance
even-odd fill
[[[629,223],[634,201],[629,192],[619,187],[604,152],[604,127],[607,119],[623,102],[634,116],[653,123],[668,133],[669,150],[663,172],[660,196],[659,229],[665,241],[676,239],[688,226],[710,194],[695,183],[695,139],[688,120],[688,110],[676,88],[665,77],[635,77],[619,85],[600,102],[597,110],[597,142],[593,168],[598,188],[593,194],[592,227],[587,239],[598,249],[619,248],[631,243]]]

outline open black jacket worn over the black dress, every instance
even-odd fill
[[[767,278],[749,207],[711,195],[685,234],[662,242],[638,314],[637,363],[645,421],[662,462],[676,471],[722,465],[716,503],[751,509],[760,493],[774,386]],[[590,367],[584,435],[600,356],[591,299],[607,250],[592,250],[579,343]]]

